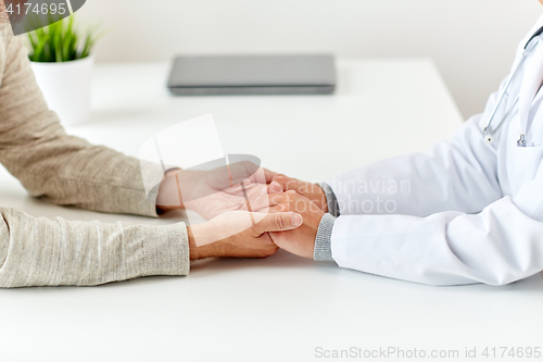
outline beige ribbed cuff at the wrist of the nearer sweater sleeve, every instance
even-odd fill
[[[187,275],[189,238],[184,223],[155,226],[143,240],[144,275]]]

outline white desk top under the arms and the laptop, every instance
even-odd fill
[[[93,120],[68,132],[137,155],[152,133],[213,113],[226,153],[255,154],[266,167],[318,180],[424,151],[462,122],[428,60],[341,61],[338,67],[332,97],[173,98],[165,89],[167,64],[100,65]],[[176,221],[50,205],[29,198],[4,170],[0,183],[2,207],[36,216]],[[542,305],[540,275],[501,288],[434,288],[279,252],[263,261],[206,261],[188,277],[0,290],[0,359],[323,360],[316,347],[457,349],[460,357],[478,347],[480,357],[484,347],[543,348]]]

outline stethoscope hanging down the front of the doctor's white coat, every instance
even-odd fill
[[[528,40],[528,42],[526,43],[525,51],[522,52],[522,58],[519,60],[519,62],[517,63],[515,70],[513,71],[513,74],[507,79],[507,83],[505,84],[505,87],[504,87],[504,89],[502,90],[502,92],[500,95],[498,101],[497,101],[496,105],[494,107],[494,109],[492,110],[492,113],[491,113],[489,120],[487,121],[487,124],[484,125],[484,128],[482,129],[482,136],[483,136],[483,138],[484,138],[484,140],[487,142],[492,143],[492,136],[500,128],[500,126],[502,125],[502,123],[509,116],[509,114],[513,112],[513,110],[515,109],[515,107],[519,102],[520,93],[517,96],[517,98],[515,99],[515,101],[510,104],[510,107],[504,113],[504,115],[503,115],[502,120],[500,121],[500,123],[497,124],[497,126],[491,132],[490,130],[490,126],[491,126],[492,122],[494,121],[494,117],[495,117],[495,115],[497,113],[497,110],[502,105],[502,102],[504,101],[504,99],[507,96],[509,96],[509,88],[510,88],[513,82],[515,80],[515,77],[517,76],[517,73],[522,67],[522,65],[526,62],[526,60],[528,59],[528,57],[530,54],[532,54],[533,50],[542,41],[542,39],[543,39],[543,26],[538,32],[535,32],[535,34],[533,34],[532,37],[530,38],[530,40]],[[528,114],[526,114],[526,116],[528,117]],[[525,125],[523,127],[526,127],[526,123],[527,123],[526,120],[522,123]],[[523,127],[521,127],[520,137],[517,140],[517,146],[518,147],[526,147],[526,129],[522,129]]]

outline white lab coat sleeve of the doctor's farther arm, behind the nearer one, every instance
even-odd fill
[[[483,142],[480,123],[481,116],[468,120],[426,154],[390,158],[328,180],[340,214],[476,213],[501,199],[496,150]]]

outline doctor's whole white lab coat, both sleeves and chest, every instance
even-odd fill
[[[543,16],[520,42],[516,62],[542,25]],[[538,73],[543,43],[539,48],[525,62],[493,127],[520,89],[533,83],[533,72],[543,76]],[[539,85],[542,78],[535,80]],[[500,90],[504,86],[505,80]],[[481,129],[497,101],[494,93],[484,113],[468,120],[451,142],[327,182],[341,213],[331,235],[333,260],[342,267],[430,285],[497,286],[541,272],[543,90],[531,100],[526,148],[517,147],[518,105],[492,143],[483,140]]]

